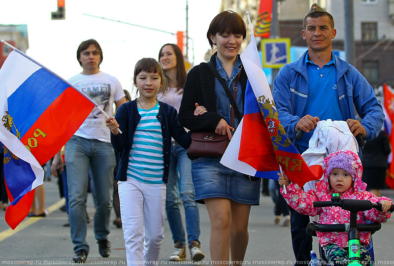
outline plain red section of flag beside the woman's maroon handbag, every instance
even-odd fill
[[[261,113],[251,113],[243,116],[238,160],[258,171],[279,170],[271,136],[265,128]]]

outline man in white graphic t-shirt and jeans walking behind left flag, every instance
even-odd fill
[[[113,103],[118,108],[126,99],[118,79],[99,70],[102,62],[99,43],[94,39],[83,41],[78,47],[77,59],[83,71],[68,81],[94,100],[108,115],[113,115]],[[85,262],[89,253],[89,244],[86,241],[85,203],[89,185],[89,166],[95,191],[94,232],[99,244],[99,253],[104,258],[111,253],[107,237],[112,207],[115,154],[111,146],[110,131],[105,126],[105,118],[98,108],[94,108],[66,143],[68,210],[75,252],[72,258],[74,262]]]

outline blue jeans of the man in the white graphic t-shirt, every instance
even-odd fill
[[[89,185],[89,166],[92,170],[96,192],[94,232],[97,240],[103,240],[109,234],[115,153],[111,143],[72,136],[66,143],[65,161],[69,200],[68,216],[71,240],[75,245],[74,252],[84,249],[89,253],[89,244],[86,241],[86,197]]]

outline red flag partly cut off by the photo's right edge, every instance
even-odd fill
[[[394,121],[394,94],[390,90],[387,84],[383,84],[383,94],[384,94],[384,110],[385,110],[385,129],[389,134],[390,144],[391,144],[391,162],[390,167],[386,175],[386,184],[394,189],[394,162],[393,162],[393,148],[394,148],[394,132],[393,132],[393,121]]]

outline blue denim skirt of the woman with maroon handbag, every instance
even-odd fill
[[[207,198],[226,198],[235,202],[259,205],[260,182],[220,163],[220,158],[200,157],[192,161],[192,178],[196,201],[204,204]]]

